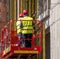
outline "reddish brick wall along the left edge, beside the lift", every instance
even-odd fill
[[[5,1],[0,0],[0,59],[1,59],[1,28],[7,22],[7,6]]]

